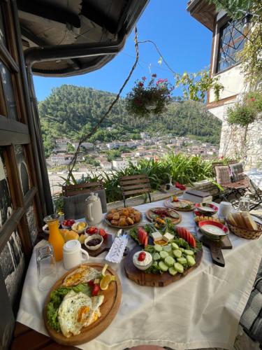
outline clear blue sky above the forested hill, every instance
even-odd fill
[[[154,41],[168,64],[177,73],[199,71],[210,64],[212,33],[191,18],[184,0],[150,0],[138,20],[138,41]],[[173,83],[173,75],[164,63],[159,65],[159,54],[151,43],[139,45],[139,64],[126,85],[122,96],[131,90],[133,83],[142,76],[157,73],[158,78],[168,78]],[[36,97],[41,101],[47,97],[52,87],[72,84],[93,87],[117,93],[128,76],[135,61],[134,34],[130,34],[122,52],[103,68],[92,73],[69,78],[43,78],[34,76]],[[174,95],[181,94],[175,90]]]

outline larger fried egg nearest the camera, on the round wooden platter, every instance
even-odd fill
[[[84,293],[71,290],[66,294],[58,310],[58,320],[61,332],[65,337],[78,335],[83,327],[91,325],[100,316],[100,305],[103,295],[89,297]]]

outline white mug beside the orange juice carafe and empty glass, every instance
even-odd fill
[[[82,257],[82,254],[85,255],[85,258]],[[77,239],[71,239],[67,241],[63,246],[63,261],[65,269],[72,269],[76,265],[81,264],[83,261],[89,259],[89,254],[87,251],[81,248],[80,241]]]

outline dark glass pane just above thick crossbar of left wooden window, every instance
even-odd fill
[[[8,118],[18,120],[12,76],[10,71],[6,68],[6,66],[1,61],[0,61],[0,72],[1,72],[1,80],[3,84],[3,92],[6,98],[6,107],[8,109]]]

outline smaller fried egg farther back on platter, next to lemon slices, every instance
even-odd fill
[[[79,283],[87,283],[94,279],[99,278],[101,272],[97,271],[93,267],[87,265],[81,265],[78,269],[75,269],[71,274],[68,274],[63,281],[63,286],[76,286]]]

